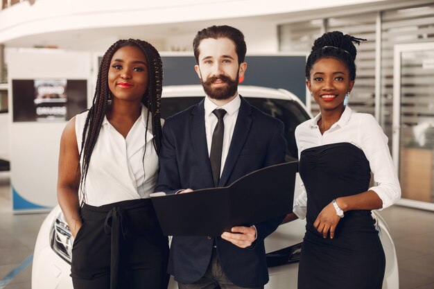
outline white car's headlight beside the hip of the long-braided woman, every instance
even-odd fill
[[[60,212],[58,218],[55,218],[53,227],[50,231],[50,245],[51,249],[58,254],[60,258],[71,264],[71,250],[72,250],[73,238],[71,230],[67,221],[64,219],[63,213]]]

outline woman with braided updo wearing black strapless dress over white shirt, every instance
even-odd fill
[[[325,33],[306,62],[306,85],[320,114],[295,130],[303,193],[284,221],[306,218],[299,289],[383,286],[385,255],[371,210],[389,207],[401,189],[383,130],[345,100],[356,79],[354,43],[361,41]]]

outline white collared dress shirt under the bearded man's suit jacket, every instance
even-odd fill
[[[209,100],[208,96],[205,97],[205,131],[207,134],[208,156],[211,152],[212,134],[214,133],[214,128],[216,128],[218,121],[217,116],[212,112],[216,109],[223,109],[227,112],[227,114],[225,114],[225,116],[223,117],[223,122],[225,123],[225,132],[223,133],[223,148],[220,175],[223,172],[223,167],[225,166],[227,152],[229,151],[232,135],[234,134],[236,118],[238,117],[238,110],[240,109],[240,105],[241,98],[238,94],[229,103],[223,105],[223,107],[218,107],[215,103]]]

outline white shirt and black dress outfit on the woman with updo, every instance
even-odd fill
[[[370,114],[345,108],[340,120],[321,134],[321,115],[295,130],[302,194],[294,213],[306,217],[298,276],[299,289],[381,289],[385,255],[370,210],[345,212],[335,237],[323,238],[313,223],[333,199],[375,191],[382,209],[399,200],[401,189],[388,138]],[[370,187],[371,172],[378,184]]]

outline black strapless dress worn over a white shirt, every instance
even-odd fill
[[[298,289],[381,289],[385,255],[370,210],[345,212],[333,239],[313,227],[331,200],[369,189],[371,170],[363,150],[332,143],[302,151],[300,176],[307,192],[306,234]]]

